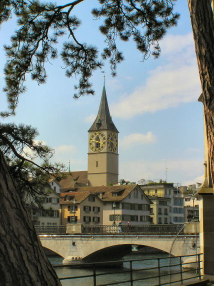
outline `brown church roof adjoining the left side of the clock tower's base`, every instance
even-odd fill
[[[87,185],[87,171],[63,172],[64,177],[59,181],[62,191],[65,188],[72,188]]]

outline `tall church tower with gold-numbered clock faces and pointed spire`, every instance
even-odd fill
[[[88,130],[87,162],[89,186],[118,182],[118,130],[110,116],[104,85],[98,114]]]

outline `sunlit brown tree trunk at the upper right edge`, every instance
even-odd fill
[[[211,0],[188,0],[188,7],[202,87],[209,169],[214,185],[214,22]]]

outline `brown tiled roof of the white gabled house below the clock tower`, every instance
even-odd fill
[[[143,192],[143,190],[137,184],[130,184],[130,185],[107,185],[107,186],[83,186],[77,187],[76,192],[89,192],[91,194],[98,194],[102,193],[101,200],[104,202],[107,201],[121,201],[124,199],[128,194],[134,189],[138,188],[144,196],[147,198],[149,203],[152,201],[147,197],[147,195]],[[112,193],[120,192],[121,195],[113,196]],[[74,191],[72,193],[75,193]],[[66,192],[65,194],[70,194],[70,192]]]

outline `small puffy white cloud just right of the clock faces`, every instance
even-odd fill
[[[124,136],[122,139],[119,140],[119,146],[122,148],[128,148],[133,146],[133,144],[147,144],[155,142],[156,137],[151,132],[148,131],[146,134],[141,133],[132,133],[127,136]]]

